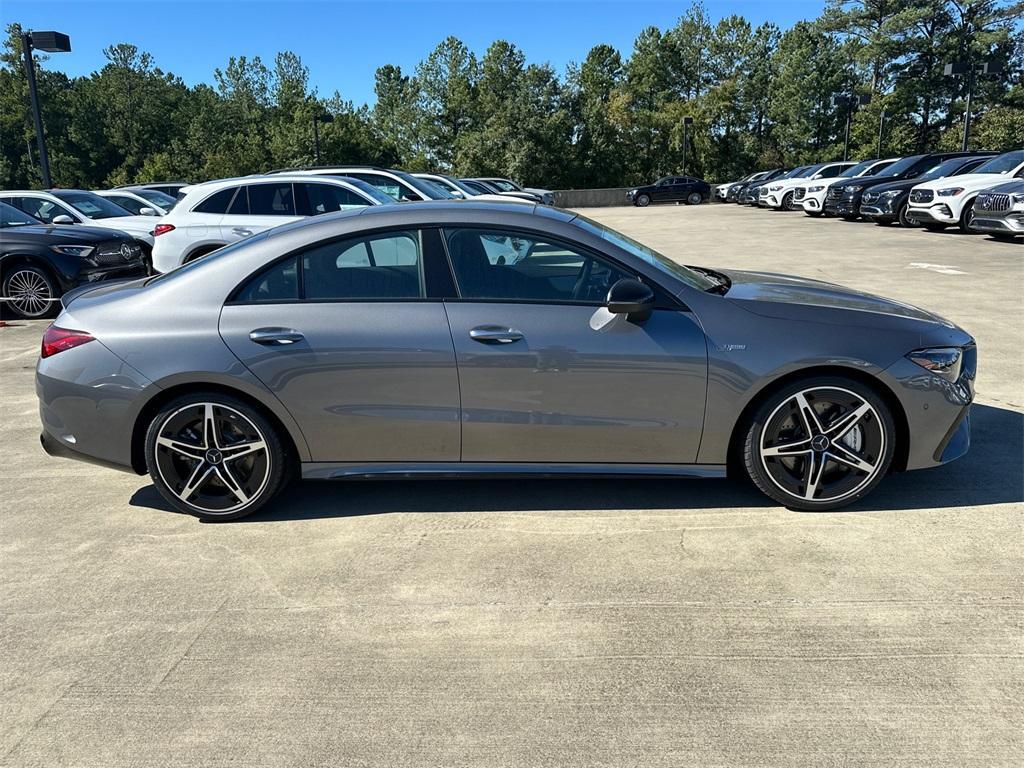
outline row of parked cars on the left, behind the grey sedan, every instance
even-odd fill
[[[0,299],[23,317],[53,313],[74,287],[166,272],[307,216],[404,201],[547,204],[548,189],[370,166],[286,169],[200,184],[0,190]]]

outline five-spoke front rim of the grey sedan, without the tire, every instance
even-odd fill
[[[842,387],[804,389],[772,411],[761,463],[781,490],[803,502],[856,495],[878,474],[886,430],[870,402]]]

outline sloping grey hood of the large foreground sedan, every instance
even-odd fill
[[[771,272],[726,270],[725,273],[732,280],[726,298],[755,314],[827,323],[829,322],[827,314],[820,310],[840,309],[863,312],[864,319],[872,326],[878,325],[872,321],[880,319],[882,315],[955,328],[953,324],[926,309],[851,288],[843,288],[833,283]],[[788,311],[794,308],[819,311],[803,311],[799,313],[807,316],[795,317],[795,313]],[[834,322],[849,323],[850,317],[849,315],[837,317]]]

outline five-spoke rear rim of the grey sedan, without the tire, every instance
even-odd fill
[[[161,479],[189,507],[238,512],[270,478],[266,438],[245,415],[218,402],[197,402],[164,419],[155,447]]]

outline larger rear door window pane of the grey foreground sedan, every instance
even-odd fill
[[[305,298],[416,299],[423,294],[422,248],[416,231],[339,241],[302,257]]]

